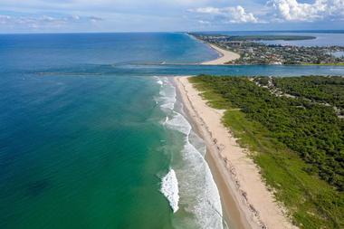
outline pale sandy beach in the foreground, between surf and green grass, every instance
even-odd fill
[[[224,212],[234,228],[298,228],[264,185],[259,168],[222,124],[225,110],[206,104],[187,77],[176,77],[187,114],[205,140],[207,157],[218,186]]]

